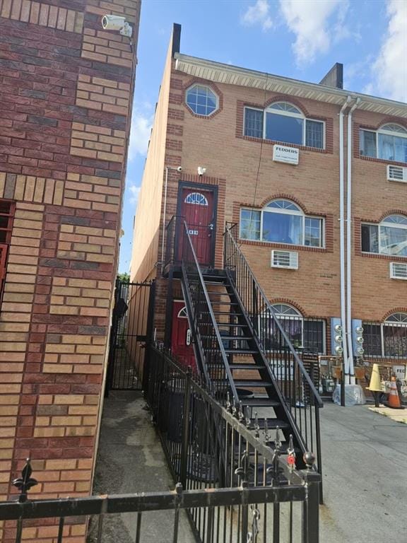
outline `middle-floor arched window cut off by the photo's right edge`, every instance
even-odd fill
[[[362,252],[407,257],[407,216],[389,215],[379,224],[362,223]]]

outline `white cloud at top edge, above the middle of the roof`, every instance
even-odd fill
[[[285,23],[296,35],[293,51],[297,64],[313,62],[317,54],[326,53],[331,35],[350,35],[345,24],[347,0],[280,0],[280,8]]]

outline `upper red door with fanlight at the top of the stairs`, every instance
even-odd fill
[[[213,264],[213,235],[215,233],[213,191],[183,188],[181,191],[181,216],[188,225],[189,236],[199,264]],[[184,225],[182,224],[182,243]],[[182,251],[182,243],[179,250]],[[181,255],[180,255],[181,256]]]

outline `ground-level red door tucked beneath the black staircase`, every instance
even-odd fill
[[[194,347],[187,319],[184,302],[174,302],[172,307],[172,354],[177,356],[182,365],[196,370]]]

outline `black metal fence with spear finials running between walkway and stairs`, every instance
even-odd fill
[[[187,492],[216,496],[230,489],[227,506],[186,506],[196,541],[318,542],[321,476],[314,455],[305,455],[306,470],[295,469],[292,439],[283,454],[277,429],[272,450],[266,446],[266,418],[254,414],[250,427],[247,414],[231,403],[222,407],[191,373],[154,347],[149,348],[145,383],[175,480]],[[246,503],[240,501],[241,491],[252,492]]]

